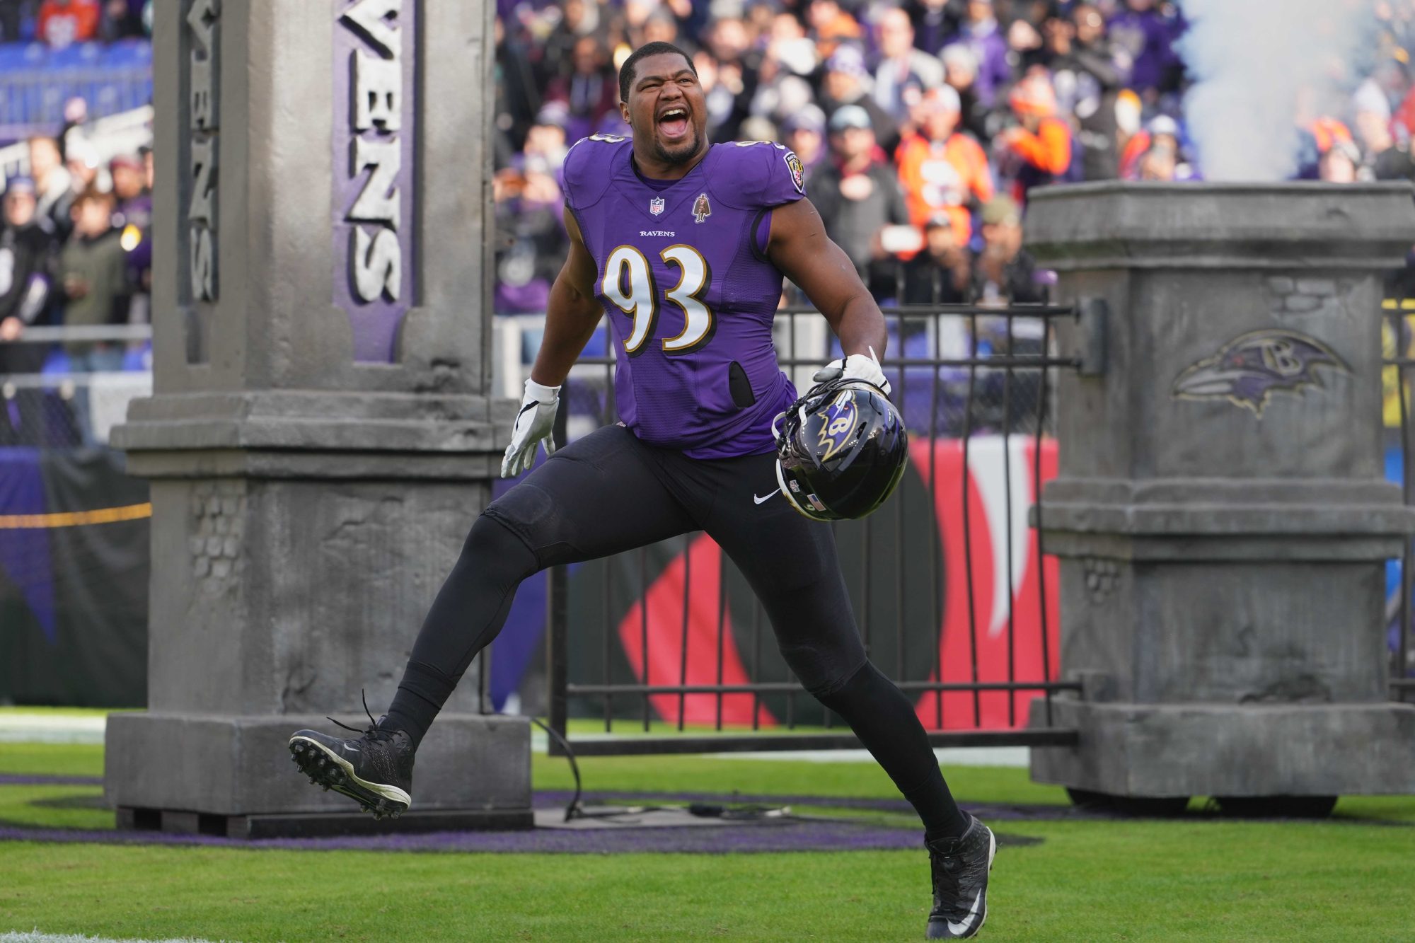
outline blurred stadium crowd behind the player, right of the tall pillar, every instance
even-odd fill
[[[1201,178],[1183,122],[1182,4],[1166,0],[498,0],[498,313],[539,312],[565,258],[558,171],[627,135],[617,65],[692,55],[715,142],[775,140],[882,302],[1034,302],[1027,194]],[[1377,4],[1368,75],[1300,120],[1298,177],[1415,177],[1415,0]]]

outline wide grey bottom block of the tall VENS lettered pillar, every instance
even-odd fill
[[[340,715],[362,729],[368,718]],[[323,716],[113,714],[103,753],[112,807],[205,816],[293,816],[357,810],[290,762],[301,728],[337,732]],[[350,736],[354,736],[352,733]],[[417,750],[409,813],[531,811],[531,724],[518,716],[443,714]],[[406,817],[405,817],[406,818]]]

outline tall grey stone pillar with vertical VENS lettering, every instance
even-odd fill
[[[286,739],[366,725],[361,688],[386,708],[515,406],[488,395],[491,24],[478,3],[158,4],[154,395],[113,433],[153,500],[149,711],[108,728],[120,823],[275,834],[355,808]],[[408,827],[529,823],[528,724],[483,716],[475,674]]]

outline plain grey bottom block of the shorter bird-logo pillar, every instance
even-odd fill
[[[1415,793],[1415,704],[1051,707],[1081,741],[1033,748],[1043,783],[1135,797]],[[1033,702],[1033,725],[1043,709]]]

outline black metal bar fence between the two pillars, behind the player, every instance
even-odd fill
[[[1056,473],[1054,374],[1078,365],[1054,353],[1053,324],[1078,310],[884,313],[882,362],[910,429],[911,473],[876,514],[832,524],[866,650],[916,699],[935,746],[1074,742],[1050,725],[1053,694],[1078,685],[1057,678],[1054,561],[1029,511]],[[798,389],[839,355],[808,307],[782,309],[775,340]],[[570,438],[614,421],[613,364],[607,347],[580,358],[562,411],[582,425]],[[710,538],[558,568],[549,581],[549,719],[576,753],[859,746],[805,695]],[[1027,726],[1034,698],[1041,728]],[[570,736],[572,715],[603,721],[603,733]]]

